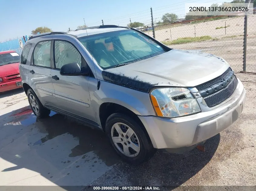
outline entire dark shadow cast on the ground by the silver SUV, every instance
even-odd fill
[[[95,180],[108,186],[129,183],[130,186],[175,188],[204,168],[220,142],[218,134],[206,141],[205,152],[197,149],[186,154],[158,151],[151,160],[133,166],[120,162],[104,132],[55,112],[39,119],[29,106],[12,111],[0,116],[0,131],[0,158],[13,164],[5,167],[0,163],[0,173],[13,172],[3,174],[4,183],[19,182],[14,173],[24,168],[62,187],[88,185]],[[26,177],[26,173],[23,176]],[[32,180],[28,178],[28,181]],[[74,190],[74,187],[65,189]]]

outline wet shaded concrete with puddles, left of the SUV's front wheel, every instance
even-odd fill
[[[55,112],[22,107],[0,116],[0,132],[0,185],[87,185],[119,161],[102,131]]]

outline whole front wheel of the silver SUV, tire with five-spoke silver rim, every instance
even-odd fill
[[[142,128],[134,119],[121,113],[113,113],[106,120],[105,132],[111,145],[117,154],[130,164],[141,164],[156,152]]]

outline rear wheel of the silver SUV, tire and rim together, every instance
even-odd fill
[[[49,116],[51,113],[51,110],[46,109],[42,103],[39,101],[38,97],[36,96],[35,92],[29,88],[28,89],[28,103],[35,114],[38,118],[45,118]]]

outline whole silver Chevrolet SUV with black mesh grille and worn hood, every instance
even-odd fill
[[[34,35],[19,70],[37,117],[81,119],[132,164],[204,143],[238,119],[246,98],[224,59],[115,25]]]

